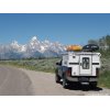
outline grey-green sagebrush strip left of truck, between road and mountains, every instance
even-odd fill
[[[1,65],[10,65],[20,68],[26,68],[31,70],[55,73],[56,62],[59,58],[46,58],[46,59],[22,59],[22,61],[0,61]]]

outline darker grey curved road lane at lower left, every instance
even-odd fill
[[[0,66],[0,95],[33,95],[32,89],[26,74],[16,68]]]

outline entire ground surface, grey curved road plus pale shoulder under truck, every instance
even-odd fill
[[[86,96],[110,95],[110,89],[75,86],[64,89],[54,74],[0,66],[0,95]]]

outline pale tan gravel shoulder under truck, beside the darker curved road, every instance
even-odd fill
[[[55,75],[51,73],[26,70],[20,68],[32,80],[34,92],[38,96],[109,96],[110,89],[97,87],[90,89],[88,86],[75,86],[64,89],[62,84],[55,82]]]

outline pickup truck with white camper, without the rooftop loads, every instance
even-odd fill
[[[56,82],[63,79],[64,88],[75,81],[96,87],[101,66],[100,56],[96,52],[66,52],[62,61],[56,63]]]

